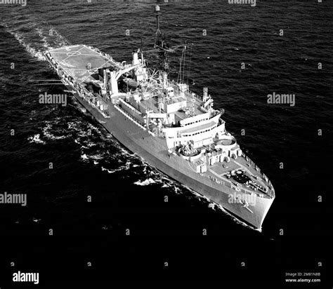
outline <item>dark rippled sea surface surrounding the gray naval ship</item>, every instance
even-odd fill
[[[0,281],[13,285],[20,269],[39,271],[43,284],[285,285],[286,272],[319,271],[332,287],[332,1],[92,2],[0,4],[0,194],[27,194],[25,207],[0,204]],[[214,107],[226,110],[226,128],[275,187],[261,232],[128,152],[73,98],[65,107],[39,104],[39,94],[65,89],[37,86],[58,79],[44,51],[107,45],[115,60],[131,61],[141,39],[152,48],[156,3],[169,45],[193,43],[191,89],[201,95],[208,87]],[[176,79],[180,51],[169,58]],[[294,93],[295,105],[268,104],[273,92]]]

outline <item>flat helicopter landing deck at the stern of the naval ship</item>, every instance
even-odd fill
[[[65,46],[48,52],[66,74],[78,83],[92,80],[91,75],[98,73],[99,68],[115,65],[112,60],[84,45]]]

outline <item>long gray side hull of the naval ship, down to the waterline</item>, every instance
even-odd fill
[[[67,85],[66,85],[67,86]],[[67,86],[68,87],[68,86]],[[70,87],[72,89],[72,87]],[[151,166],[174,180],[181,182],[198,194],[223,207],[250,226],[261,229],[262,223],[274,198],[254,196],[254,206],[245,208],[242,203],[230,202],[230,194],[235,193],[229,188],[222,188],[214,180],[193,171],[188,164],[179,160],[179,157],[169,155],[165,140],[154,137],[147,131],[139,128],[136,123],[117,110],[111,103],[109,105],[110,118],[105,118],[97,109],[74,93],[75,98],[100,122],[124,147],[141,156]]]

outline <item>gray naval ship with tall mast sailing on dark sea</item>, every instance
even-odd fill
[[[228,133],[223,109],[214,109],[207,88],[197,95],[183,77],[169,79],[167,54],[173,48],[159,29],[159,6],[155,11],[156,69],[148,67],[141,49],[132,53],[131,63],[86,45],[50,49],[44,56],[79,103],[122,145],[261,230],[275,199],[273,186]],[[182,47],[184,55],[187,46]]]

